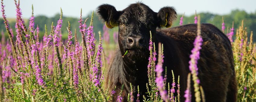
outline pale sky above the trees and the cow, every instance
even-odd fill
[[[123,10],[129,4],[136,3],[138,0],[20,0],[20,7],[24,18],[30,18],[31,5],[34,5],[34,16],[46,15],[54,16],[63,10],[64,16],[79,17],[80,9],[83,16],[87,16],[92,10],[101,4],[111,4],[117,10]],[[216,14],[227,14],[231,10],[240,9],[247,13],[256,12],[256,0],[142,0],[153,11],[164,6],[173,6],[178,14],[192,15],[197,10],[200,12],[211,12]],[[16,7],[14,0],[4,0],[5,13],[8,18],[15,18]]]

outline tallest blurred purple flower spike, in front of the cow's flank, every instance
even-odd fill
[[[200,102],[200,91],[199,91],[199,83],[200,80],[197,77],[198,75],[198,67],[197,67],[197,61],[200,58],[200,49],[202,46],[203,38],[201,37],[201,27],[200,27],[200,16],[198,16],[198,24],[197,24],[197,37],[194,41],[194,48],[191,50],[191,55],[190,55],[190,61],[189,61],[189,69],[192,74],[192,78],[194,81],[194,91],[195,91],[195,97],[196,101]]]

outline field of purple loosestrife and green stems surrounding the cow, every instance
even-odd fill
[[[99,39],[95,39],[93,28],[93,15],[90,25],[87,27],[85,22],[88,19],[82,19],[82,9],[78,31],[71,31],[69,27],[62,27],[62,10],[57,25],[52,25],[49,30],[45,26],[43,39],[39,39],[38,27],[34,28],[34,15],[32,6],[32,15],[29,26],[24,24],[22,19],[19,1],[16,5],[16,25],[15,31],[8,25],[6,19],[4,2],[1,1],[2,16],[5,23],[6,32],[9,39],[5,40],[2,36],[0,42],[0,102],[2,101],[122,101],[122,96],[117,100],[112,100],[115,93],[113,90],[109,93],[108,82],[104,80],[104,72],[110,64],[109,57],[114,51],[113,45],[109,44],[109,34],[104,28],[103,40],[102,33],[99,33]],[[224,32],[225,23],[222,21],[222,31]],[[203,88],[198,83],[197,78],[197,60],[200,58],[202,38],[200,36],[200,16],[195,16],[195,22],[198,24],[197,38],[194,41],[194,49],[191,51],[191,60],[188,62],[191,74],[188,77],[187,90],[185,95],[180,95],[179,77],[173,79],[172,83],[166,83],[166,73],[162,75],[164,57],[164,46],[155,49],[155,44],[150,40],[149,64],[147,84],[148,96],[134,98],[133,91],[128,94],[128,101],[139,101],[143,97],[144,101],[178,101],[181,97],[186,98],[186,102],[191,101],[191,91],[195,91],[196,101],[205,101]],[[180,18],[180,25],[183,25],[183,16]],[[60,29],[67,29],[68,40],[61,39]],[[13,32],[17,35],[14,36]],[[82,41],[78,42],[77,33],[81,33]],[[225,33],[225,32],[224,32]],[[232,36],[235,28],[227,29],[227,36],[232,42],[232,49],[235,61],[235,71],[238,82],[238,101],[256,100],[256,68],[255,68],[255,44],[252,42],[253,33],[248,32],[242,25],[236,29],[236,39]],[[114,34],[114,41],[117,42],[117,32]],[[161,46],[161,44],[159,44]],[[104,48],[104,49],[103,49]],[[162,48],[162,49],[161,49]],[[158,51],[157,51],[158,50]],[[157,54],[158,52],[158,54]],[[158,57],[158,63],[156,63]],[[192,77],[193,80],[190,80]],[[190,86],[190,81],[194,81],[194,86]],[[170,85],[171,84],[171,85]],[[168,85],[168,89],[164,86]],[[190,87],[194,87],[191,90]],[[136,87],[139,90],[139,86]],[[134,88],[131,87],[131,90]],[[174,96],[174,94],[177,96]]]

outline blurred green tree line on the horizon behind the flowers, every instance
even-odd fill
[[[234,22],[234,28],[238,29],[238,27],[242,23],[242,20],[244,20],[244,27],[247,27],[248,33],[250,33],[251,31],[256,32],[256,11],[254,13],[247,13],[244,10],[232,10],[231,13],[225,14],[225,15],[219,15],[219,14],[214,14],[214,13],[209,13],[209,12],[198,13],[197,15],[200,15],[202,23],[211,23],[211,24],[215,25],[216,27],[218,27],[219,29],[221,29],[221,26],[222,26],[222,16],[223,16],[225,26],[226,26],[225,33],[227,32],[227,28],[232,27],[232,22]],[[56,14],[53,17],[47,17],[44,15],[35,16],[35,20],[34,20],[35,28],[38,25],[39,31],[40,31],[40,33],[39,33],[40,38],[42,38],[44,35],[45,24],[47,26],[48,34],[49,34],[52,22],[53,22],[53,25],[56,25],[57,20],[59,20],[59,16],[60,16],[60,14]],[[172,27],[179,26],[181,16],[182,16],[182,14],[178,14],[177,20],[173,22]],[[183,24],[185,25],[185,24],[194,23],[194,16],[195,15],[184,16]],[[83,17],[83,19],[86,19],[86,18],[89,18],[86,22],[86,24],[88,26],[90,23],[91,14],[88,14],[87,16]],[[67,39],[68,31],[67,31],[66,27],[68,26],[68,21],[70,22],[71,30],[74,33],[75,29],[79,29],[78,28],[79,27],[78,20],[79,20],[78,17],[75,18],[75,17],[63,16],[63,24],[62,24],[62,29],[61,29],[62,39]],[[94,20],[93,21],[93,26],[94,26],[93,30],[95,32],[96,39],[98,39],[98,31],[103,32],[103,26],[105,23],[99,19],[97,14],[94,14],[93,20]],[[24,19],[24,21],[25,21],[25,24],[28,26],[29,19]],[[14,27],[15,22],[16,21],[14,19],[9,20],[9,24],[12,29],[15,29],[15,27]],[[5,32],[4,20],[2,18],[0,19],[0,30]],[[109,29],[109,32],[113,33],[113,32],[116,32],[117,30],[118,30],[118,28]],[[77,32],[78,32],[77,33],[78,36],[80,36],[80,33],[78,30],[77,30]],[[236,32],[236,30],[235,30],[235,32]],[[15,35],[15,30],[13,30],[13,33]],[[110,36],[111,35],[113,35],[113,34],[110,34]],[[2,36],[2,35],[0,35],[0,36]],[[8,38],[7,34],[5,34],[5,38]],[[235,38],[235,36],[234,36],[234,38]],[[253,38],[254,38],[254,41],[256,41],[256,35],[253,35]]]

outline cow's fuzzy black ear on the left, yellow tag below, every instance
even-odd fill
[[[97,9],[101,19],[106,22],[107,28],[111,29],[118,26],[117,20],[120,16],[120,11],[117,11],[114,6],[109,4],[102,4]]]

